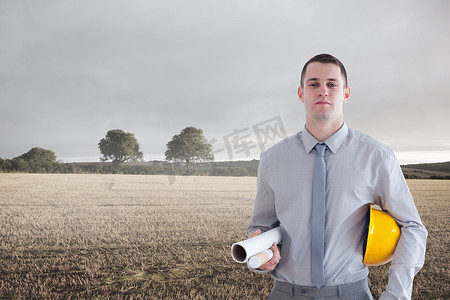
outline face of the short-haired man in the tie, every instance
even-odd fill
[[[298,96],[305,104],[307,120],[342,124],[343,106],[350,97],[350,88],[344,86],[339,66],[312,62],[306,68]]]

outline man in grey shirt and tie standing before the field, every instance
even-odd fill
[[[268,299],[373,299],[362,262],[370,204],[386,210],[401,228],[380,299],[411,299],[427,231],[393,151],[344,122],[350,88],[337,58],[310,59],[298,95],[305,128],[261,154],[249,224],[251,237],[282,226],[280,249],[273,245],[273,258],[253,270],[272,271]],[[326,174],[322,187],[316,168]]]

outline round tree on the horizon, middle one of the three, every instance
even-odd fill
[[[110,130],[105,138],[98,143],[98,148],[103,154],[101,161],[111,159],[113,162],[126,162],[142,160],[143,153],[139,151],[139,143],[134,134],[120,129]]]

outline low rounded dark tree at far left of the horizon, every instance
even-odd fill
[[[12,163],[22,172],[28,170],[34,173],[51,172],[56,163],[56,155],[51,150],[34,147],[27,153],[15,157]]]

